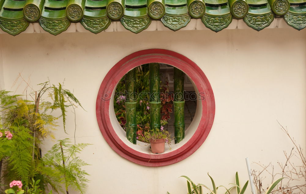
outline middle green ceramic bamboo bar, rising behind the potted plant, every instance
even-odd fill
[[[150,129],[160,129],[159,63],[149,64],[150,75]]]

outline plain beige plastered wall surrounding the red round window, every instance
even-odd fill
[[[183,194],[186,184],[179,176],[211,185],[207,172],[217,185],[233,182],[236,171],[245,182],[245,157],[273,162],[277,168],[276,162],[285,159],[283,150],[292,147],[276,120],[305,147],[305,30],[2,34],[0,43],[7,90],[24,90],[20,81],[13,86],[19,72],[36,89],[47,77],[52,83],[65,78],[66,88],[74,90],[87,111],[77,110],[76,140],[93,144],[81,155],[92,165],[86,167],[91,174],[88,193]],[[157,168],[117,155],[95,116],[96,95],[108,70],[126,55],[149,48],[173,50],[194,61],[210,81],[216,101],[215,122],[204,144],[187,159]],[[58,130],[58,139],[73,137],[74,118],[69,116],[70,135]],[[46,140],[46,148],[53,143]]]

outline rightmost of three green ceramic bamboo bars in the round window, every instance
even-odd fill
[[[181,142],[185,137],[184,119],[184,78],[185,73],[174,67],[174,141]]]

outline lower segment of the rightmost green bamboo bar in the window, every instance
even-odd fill
[[[174,101],[174,141],[181,142],[185,138],[185,101]]]

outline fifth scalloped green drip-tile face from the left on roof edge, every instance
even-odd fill
[[[181,28],[184,28],[187,26],[187,24],[190,22],[191,17],[189,14],[186,14],[184,16],[170,16],[165,14],[161,21],[167,28],[177,31]]]

